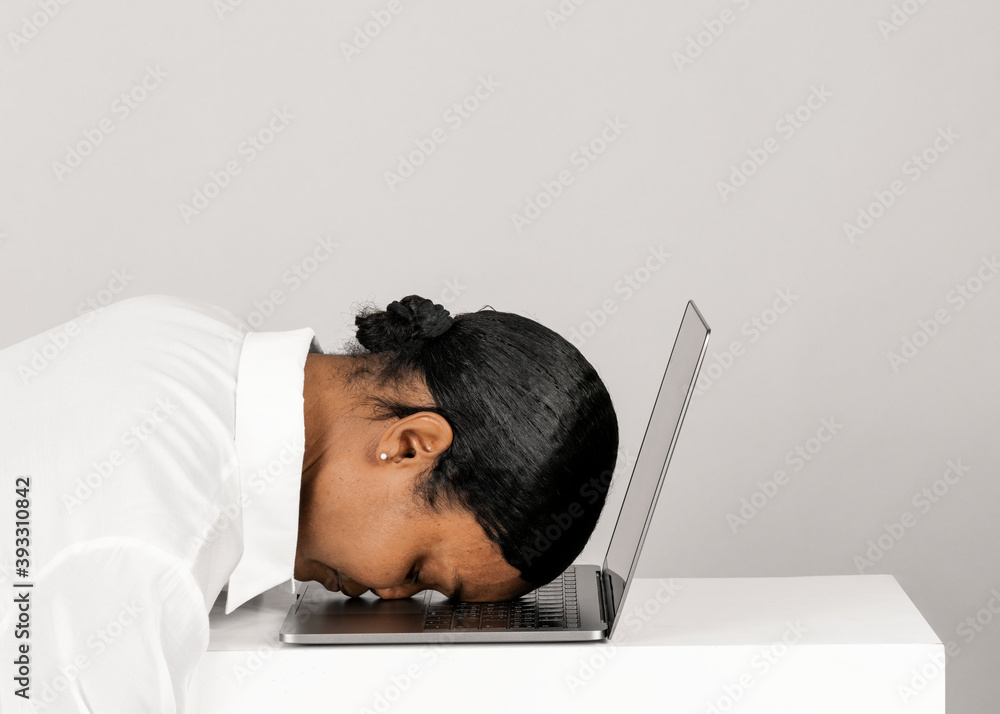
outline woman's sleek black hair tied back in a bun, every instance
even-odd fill
[[[373,418],[439,414],[452,443],[418,493],[469,510],[535,587],[583,550],[618,456],[618,419],[594,367],[558,333],[484,307],[452,317],[418,295],[363,307],[345,351],[366,376]],[[422,379],[433,404],[400,398]]]

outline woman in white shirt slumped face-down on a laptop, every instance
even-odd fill
[[[0,709],[184,711],[223,590],[497,600],[570,564],[618,449],[579,351],[416,295],[355,322],[324,354],[154,295],[0,351]]]

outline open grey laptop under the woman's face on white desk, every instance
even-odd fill
[[[653,509],[684,421],[710,329],[688,302],[636,456],[604,564],[574,564],[516,600],[452,603],[424,591],[382,600],[350,598],[311,582],[279,639],[298,644],[556,642],[611,638],[635,574]]]

